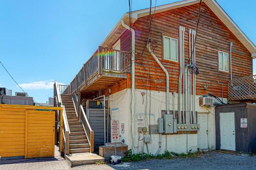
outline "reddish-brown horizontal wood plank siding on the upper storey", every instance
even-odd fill
[[[179,62],[163,60],[162,34],[179,37],[179,26],[185,27],[185,64],[188,63],[188,29],[196,29],[199,4],[173,9],[152,15],[152,33],[154,52],[163,63],[170,75],[170,91],[178,92]],[[150,74],[148,85],[152,90],[165,91],[165,74],[148,56],[145,48],[148,32],[148,16],[139,18],[134,23],[136,43],[136,88],[145,89],[147,75]],[[124,35],[124,34],[123,34]],[[230,72],[218,70],[218,50],[229,51],[232,47],[233,77],[252,75],[252,58],[245,46],[228,30],[222,21],[203,3],[198,28],[196,61],[200,74],[197,76],[198,95],[212,93],[221,96],[221,84],[224,83],[224,97],[227,97],[227,83]],[[122,46],[121,46],[122,48]],[[124,47],[125,48],[125,47]],[[178,50],[179,51],[179,50]],[[144,53],[143,53],[144,52]],[[203,89],[208,86],[207,91]]]

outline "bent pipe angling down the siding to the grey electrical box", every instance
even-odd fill
[[[156,57],[156,55],[151,51],[150,48],[150,43],[147,42],[147,50],[148,52],[151,54],[151,56],[155,59],[155,61],[157,62],[157,64],[161,67],[161,69],[163,70],[163,72],[165,73],[166,76],[166,113],[170,114],[169,111],[169,74],[168,71],[164,68],[164,66],[162,65],[162,63],[158,60],[158,58]]]

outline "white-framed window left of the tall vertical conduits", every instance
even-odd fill
[[[178,61],[178,39],[163,36],[164,59]]]

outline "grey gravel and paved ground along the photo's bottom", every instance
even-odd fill
[[[0,161],[0,169],[256,169],[256,155],[236,155],[220,152],[206,152],[200,158],[153,159],[141,162],[131,162],[118,165],[93,164],[70,168],[66,161],[56,156],[48,159],[31,159],[22,162],[18,160]],[[10,163],[10,164],[4,164]],[[2,165],[1,165],[2,164]]]

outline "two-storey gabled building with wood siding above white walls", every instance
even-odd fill
[[[84,101],[104,96],[104,142],[134,153],[215,149],[214,105],[255,101],[255,57],[255,45],[215,0],[127,12],[59,89],[76,107],[68,126],[69,116],[81,120],[89,138]]]

